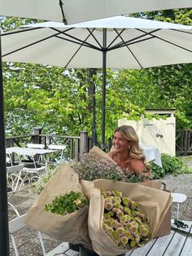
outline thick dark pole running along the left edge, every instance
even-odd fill
[[[9,255],[8,208],[7,208],[7,169],[4,128],[4,105],[2,85],[2,46],[0,31],[0,252]]]

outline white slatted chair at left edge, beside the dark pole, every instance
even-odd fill
[[[8,193],[8,205],[11,206],[13,210],[15,210],[15,214],[19,216],[19,211],[16,209],[15,205],[11,204],[9,201],[11,197],[15,194],[17,190],[20,189],[19,184],[22,183],[21,179],[21,173],[24,168],[24,165],[18,165],[18,166],[9,166],[7,167],[7,193]]]

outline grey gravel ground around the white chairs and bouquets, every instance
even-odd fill
[[[192,169],[192,163],[189,163],[189,166]],[[187,200],[180,206],[179,218],[183,220],[192,221],[192,174],[180,174],[178,176],[166,175],[162,182],[166,183],[167,189],[170,189],[172,192],[184,193],[187,196]],[[10,201],[13,205],[16,206],[20,214],[25,214],[28,212],[30,207],[35,201],[36,195],[30,191],[28,185],[24,186],[24,189],[20,192],[15,193],[11,197]],[[16,217],[15,212],[9,207],[9,220]],[[177,217],[177,205],[172,204],[172,218]],[[37,232],[33,231],[30,227],[24,227],[20,232],[16,233],[16,239],[18,240],[18,248],[20,256],[43,255],[41,252],[41,247],[37,239]],[[44,236],[43,240],[46,245],[46,250],[50,251],[56,245],[59,245],[59,241]],[[14,256],[14,250],[11,244],[10,238],[10,255]]]

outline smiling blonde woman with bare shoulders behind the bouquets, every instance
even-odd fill
[[[150,165],[146,163],[143,150],[139,147],[137,133],[132,126],[118,127],[112,143],[113,147],[108,155],[124,170],[124,174],[135,173],[150,177]]]

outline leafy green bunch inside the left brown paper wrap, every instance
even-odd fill
[[[52,204],[45,205],[45,210],[54,214],[71,214],[88,205],[88,201],[81,192],[68,192],[64,196],[56,196]]]

